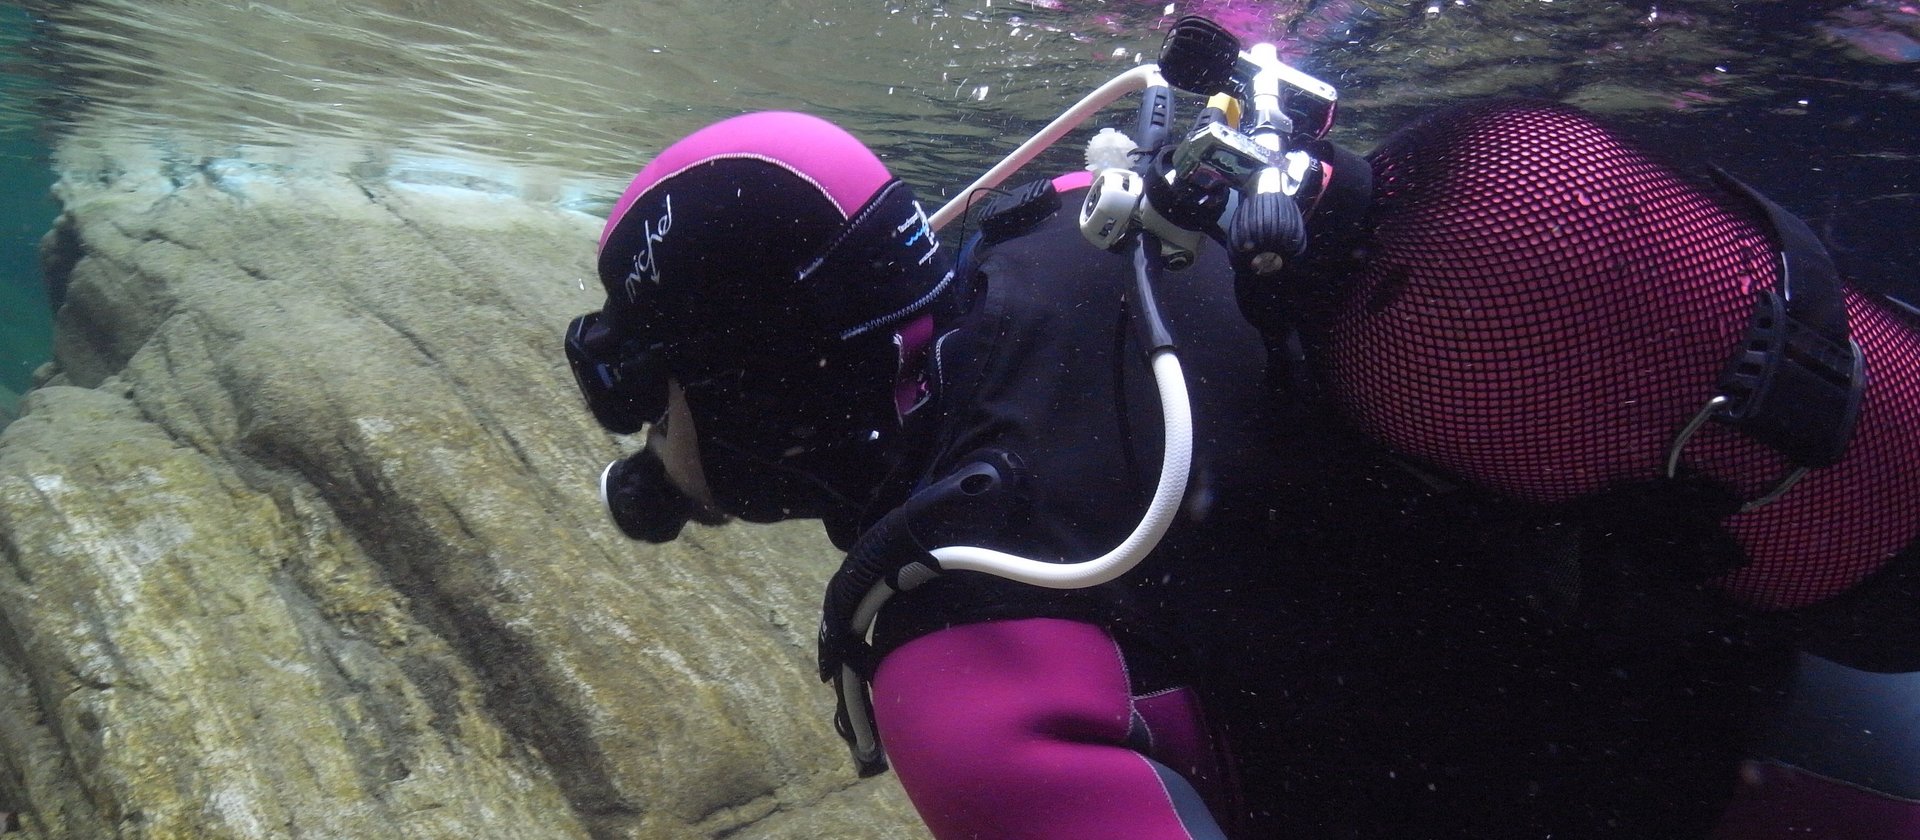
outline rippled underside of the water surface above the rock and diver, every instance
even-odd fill
[[[1920,10],[1903,0],[29,0],[0,6],[0,186],[17,198],[0,385],[44,359],[31,242],[52,173],[351,173],[593,213],[672,138],[785,107],[943,198],[1187,12],[1338,84],[1352,146],[1444,102],[1567,100],[1715,157],[1811,217],[1859,278],[1920,261]],[[1066,146],[1048,167],[1079,163]]]

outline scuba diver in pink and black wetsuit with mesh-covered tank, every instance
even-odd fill
[[[566,334],[622,531],[822,520],[839,729],[941,838],[1920,836],[1912,311],[1569,107],[1357,159],[1200,23],[1244,121],[1150,94],[958,255],[824,121],[660,152]]]

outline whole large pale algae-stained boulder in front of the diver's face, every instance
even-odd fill
[[[899,838],[812,679],[818,525],[626,541],[559,351],[597,221],[65,173],[0,433],[23,836]]]

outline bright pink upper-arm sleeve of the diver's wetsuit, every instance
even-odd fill
[[[1192,782],[1142,752],[1150,717],[1196,706],[1142,702],[1106,631],[1050,618],[929,633],[874,675],[887,758],[937,838],[1225,838]],[[1200,727],[1165,723],[1167,758],[1219,779],[1190,744]]]

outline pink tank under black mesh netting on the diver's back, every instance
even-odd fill
[[[1434,115],[1371,159],[1373,251],[1327,336],[1344,410],[1532,502],[1661,476],[1780,282],[1766,222],[1551,104]],[[1920,533],[1920,334],[1851,290],[1847,313],[1868,384],[1845,460],[1726,520],[1751,562],[1720,583],[1759,608],[1830,598]],[[1747,499],[1788,472],[1720,424],[1684,458]]]

